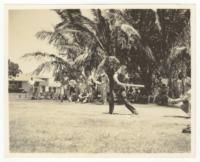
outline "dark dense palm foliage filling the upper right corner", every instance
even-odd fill
[[[135,62],[140,62],[138,72],[141,79],[150,90],[152,73],[159,73],[162,77],[170,78],[168,58],[173,49],[187,47],[190,52],[190,10],[187,9],[127,9],[124,18],[135,27],[141,36],[143,47],[153,53],[155,61],[135,57]],[[141,56],[140,50],[133,49],[132,53]],[[146,52],[148,53],[148,52]],[[176,59],[177,61],[177,59]],[[134,69],[137,66],[133,65]],[[187,64],[189,67],[189,64]],[[180,66],[177,67],[178,70]],[[190,68],[188,68],[190,69]],[[176,70],[177,71],[177,70]]]

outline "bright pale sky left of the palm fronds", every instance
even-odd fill
[[[90,17],[87,10],[82,14]],[[53,31],[53,27],[61,21],[52,10],[9,10],[8,21],[8,58],[19,64],[23,73],[30,73],[41,63],[22,56],[32,52],[58,53],[48,41],[39,40],[35,34],[41,30]]]

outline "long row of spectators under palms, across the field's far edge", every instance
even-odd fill
[[[127,82],[130,82],[127,77]],[[152,82],[152,91],[147,94],[144,88],[126,87],[126,96],[131,103],[157,103],[159,105],[168,105],[168,98],[179,98],[183,94],[183,90],[187,91],[188,88],[183,83],[183,78],[179,75],[178,79],[173,81],[171,90],[167,83],[162,81],[162,78],[154,77]],[[116,87],[118,88],[118,87]],[[48,99],[59,99],[61,102],[67,100],[69,102],[98,102],[106,104],[108,102],[109,94],[109,79],[103,73],[94,79],[92,75],[84,77],[80,75],[78,79],[73,80],[65,78],[65,81],[59,87],[59,92],[56,89],[48,91]],[[42,95],[40,95],[41,97]],[[118,95],[118,90],[114,91],[114,100],[116,103],[121,103],[121,98]]]

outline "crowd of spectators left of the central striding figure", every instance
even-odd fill
[[[60,87],[59,99],[61,102],[102,102],[107,103],[107,82],[103,82],[104,76],[97,81],[92,77],[80,76],[76,80],[66,80]]]

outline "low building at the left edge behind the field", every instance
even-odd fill
[[[10,77],[8,92],[10,99],[55,99],[59,97],[60,82],[53,78],[20,74]]]

